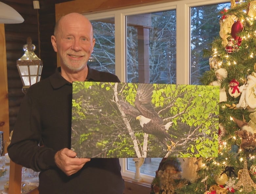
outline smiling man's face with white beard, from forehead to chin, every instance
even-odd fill
[[[61,66],[77,72],[87,65],[95,45],[92,26],[82,18],[67,19],[52,36],[53,48],[60,56]]]

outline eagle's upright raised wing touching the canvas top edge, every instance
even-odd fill
[[[152,84],[139,84],[135,97],[135,107],[144,117],[162,124],[163,120],[151,104],[153,91],[154,87]]]

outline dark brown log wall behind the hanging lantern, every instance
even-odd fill
[[[19,111],[20,103],[24,97],[22,82],[16,67],[16,60],[23,54],[23,45],[27,37],[32,38],[35,45],[35,54],[43,61],[42,79],[54,72],[56,67],[56,54],[51,45],[51,35],[55,25],[55,3],[67,0],[40,1],[40,10],[33,9],[32,0],[3,0],[2,2],[18,11],[24,18],[21,24],[5,24],[6,59],[8,77],[9,124],[10,131]]]

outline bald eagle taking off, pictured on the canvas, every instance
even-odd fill
[[[139,84],[134,102],[135,107],[121,98],[119,98],[119,103],[126,115],[139,120],[144,133],[156,136],[162,144],[167,146],[168,150],[171,150],[175,143],[167,131],[173,122],[163,125],[162,118],[151,103],[153,90],[152,84]],[[167,141],[170,141],[172,145],[168,145]]]

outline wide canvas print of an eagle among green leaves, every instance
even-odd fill
[[[71,147],[85,158],[216,157],[219,87],[73,82]]]

